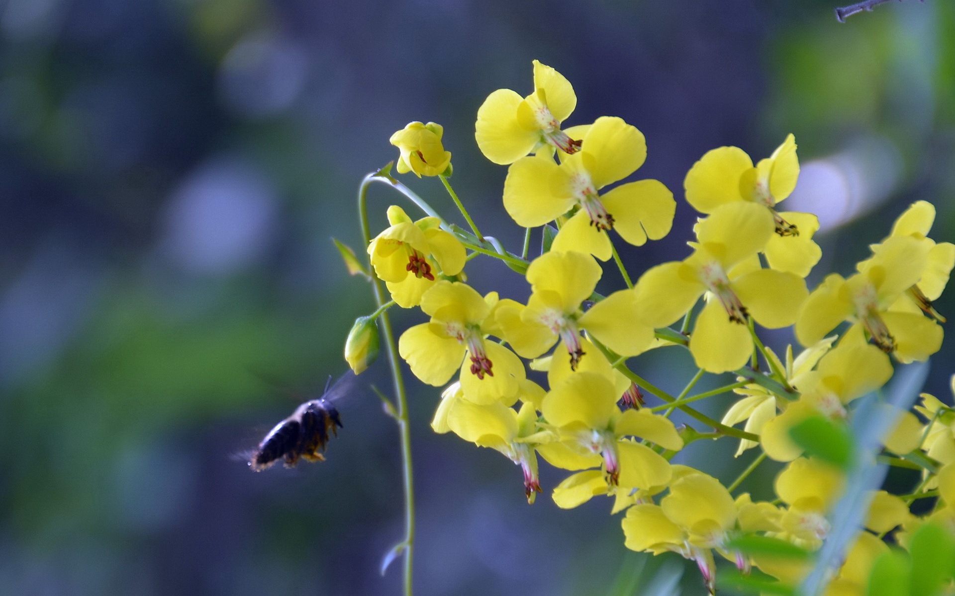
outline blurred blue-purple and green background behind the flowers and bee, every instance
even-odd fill
[[[0,594],[398,593],[400,569],[377,570],[402,534],[397,433],[365,382],[388,386],[384,360],[340,403],[328,462],[254,474],[233,456],[296,405],[262,377],[311,391],[346,369],[373,303],[330,236],[361,251],[355,191],[396,158],[394,131],[441,123],[458,194],[520,252],[474,120],[488,93],[531,91],[534,58],[573,83],[568,125],[624,117],[647,135],[637,177],[677,195],[674,232],[623,249],[631,274],[686,255],[696,159],[767,156],[788,133],[786,208],[823,226],[811,285],[850,273],[917,199],[952,240],[955,4],[840,25],[834,2],[0,0]],[[463,223],[439,181],[406,177]],[[372,188],[372,228],[401,200]],[[468,272],[528,294],[499,261]],[[621,287],[612,267],[602,283]],[[927,387],[946,401],[953,354]],[[672,391],[693,372],[676,349],[637,370]],[[546,491],[564,472],[542,464],[528,506],[518,467],[431,431],[438,399],[411,384],[417,593],[703,592],[678,557],[627,553],[609,500],[559,510]],[[732,479],[754,455],[734,449],[679,461]]]

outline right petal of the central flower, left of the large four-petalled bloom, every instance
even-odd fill
[[[620,356],[636,356],[653,340],[653,327],[640,316],[633,290],[620,290],[597,302],[579,323]]]

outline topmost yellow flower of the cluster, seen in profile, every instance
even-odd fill
[[[509,89],[491,93],[477,110],[475,138],[485,157],[500,165],[550,145],[565,154],[580,142],[561,130],[577,106],[574,88],[560,72],[534,61],[534,92],[521,97]]]

